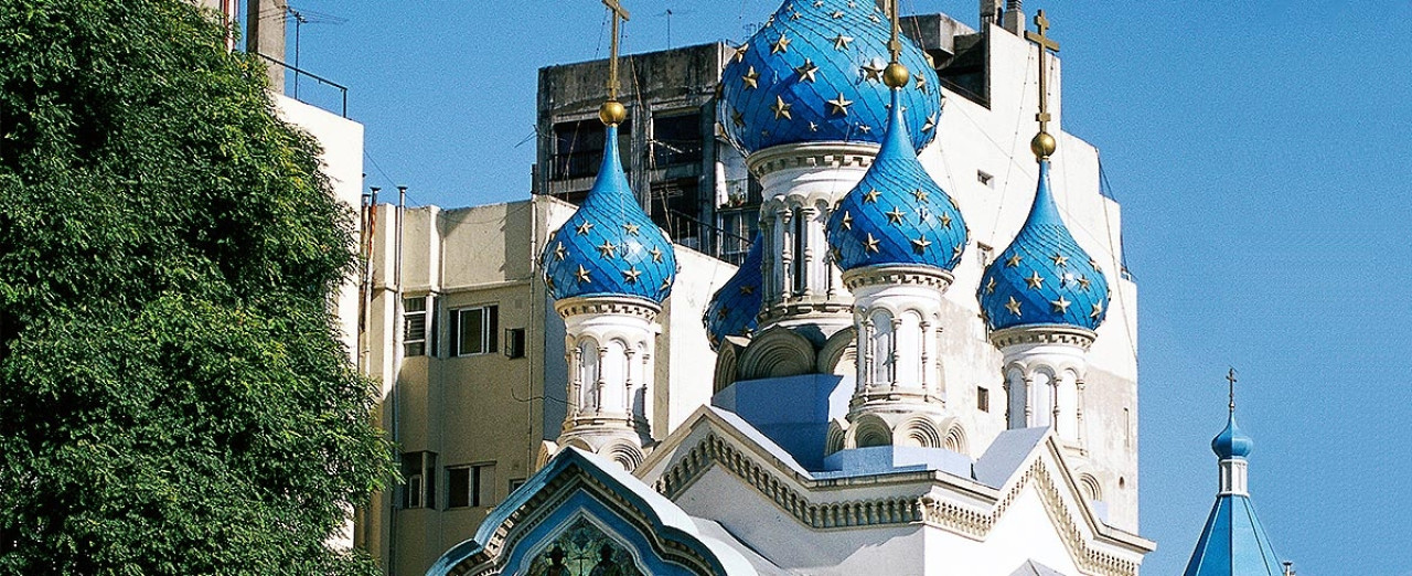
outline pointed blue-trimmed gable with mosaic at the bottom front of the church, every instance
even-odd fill
[[[428,575],[751,575],[675,504],[616,464],[565,449]]]

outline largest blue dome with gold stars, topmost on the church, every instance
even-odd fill
[[[720,123],[747,154],[781,144],[882,141],[891,24],[873,0],[786,0],[722,73]],[[928,56],[901,38],[915,150],[936,136],[940,92]]]

